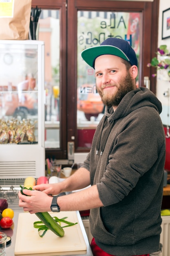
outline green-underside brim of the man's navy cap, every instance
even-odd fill
[[[104,54],[116,55],[124,58],[126,61],[130,61],[129,58],[121,51],[121,49],[113,45],[98,45],[85,49],[82,52],[82,58],[88,65],[94,68],[95,59]]]

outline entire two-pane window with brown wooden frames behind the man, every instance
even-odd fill
[[[81,57],[86,47],[99,45],[109,36],[129,40],[137,55],[140,49],[139,86],[144,86],[144,76],[148,76],[150,90],[156,93],[155,79],[147,63],[157,49],[157,40],[151,38],[157,38],[158,20],[152,10],[157,13],[158,2],[134,1],[132,7],[130,1],[100,0],[96,5],[96,0],[32,0],[32,7],[42,8],[37,39],[45,42],[46,158],[68,159],[70,142],[76,153],[88,152],[103,115],[94,70]],[[57,79],[53,79],[53,72]],[[53,85],[60,85],[57,101]],[[85,100],[83,108],[90,102],[90,113],[81,109]]]

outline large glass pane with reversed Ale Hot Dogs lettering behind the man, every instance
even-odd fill
[[[108,37],[116,37],[128,40],[139,58],[140,13],[78,11],[77,20],[78,147],[91,148],[95,128],[104,115],[104,105],[96,90],[95,70],[82,60],[81,52]]]

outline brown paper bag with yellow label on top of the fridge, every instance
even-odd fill
[[[31,0],[0,1],[0,40],[29,39]]]

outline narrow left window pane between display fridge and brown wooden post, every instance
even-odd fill
[[[60,147],[60,16],[59,10],[42,10],[38,40],[45,42],[45,147]]]

